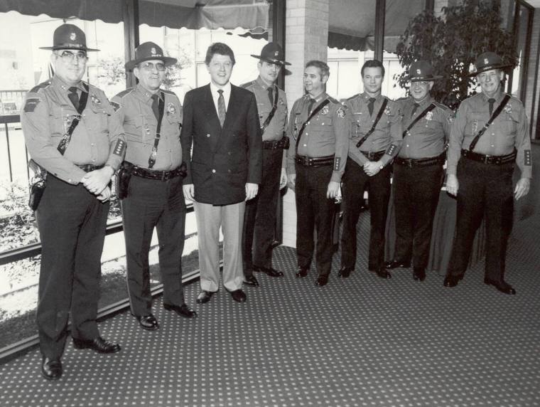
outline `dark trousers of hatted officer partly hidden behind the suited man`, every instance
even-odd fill
[[[244,275],[253,275],[253,263],[261,267],[272,267],[272,243],[279,196],[282,149],[264,149],[262,180],[259,193],[246,203],[242,255]]]

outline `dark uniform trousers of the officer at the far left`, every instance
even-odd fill
[[[36,211],[41,238],[37,322],[41,353],[63,354],[71,314],[71,336],[95,339],[101,255],[109,203],[85,186],[48,174]]]

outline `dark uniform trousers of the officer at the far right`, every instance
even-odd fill
[[[508,237],[512,231],[514,163],[494,165],[461,157],[458,162],[458,213],[448,275],[465,273],[475,233],[486,222],[485,277],[504,280]]]

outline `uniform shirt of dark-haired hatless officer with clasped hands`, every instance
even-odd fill
[[[387,153],[381,158],[382,164],[386,165],[396,157],[401,147],[401,117],[396,102],[388,100],[387,107],[384,108],[381,119],[372,134],[360,145],[360,148],[356,147],[357,142],[372,128],[382,103],[386,99],[382,95],[375,97],[373,115],[369,115],[367,106],[369,97],[371,96],[367,93],[360,93],[345,102],[350,117],[349,157],[363,166],[369,162],[369,159],[362,152],[386,151]]]

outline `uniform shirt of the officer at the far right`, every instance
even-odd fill
[[[495,97],[493,111],[500,105],[504,93]],[[448,174],[456,173],[461,149],[469,149],[477,132],[490,120],[490,103],[484,93],[468,97],[461,102],[450,132],[448,146]],[[482,134],[473,150],[475,153],[502,156],[517,150],[516,163],[522,178],[531,178],[531,139],[525,110],[515,97],[510,97],[500,115]]]

